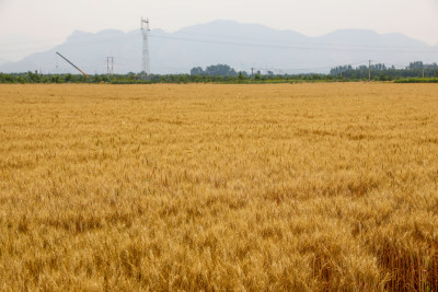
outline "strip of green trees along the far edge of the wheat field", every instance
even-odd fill
[[[400,81],[410,79],[414,82],[418,78],[429,81],[438,80],[438,65],[411,62],[403,69],[387,67],[383,63],[368,66],[338,66],[332,68],[330,73],[308,74],[275,74],[272,71],[262,73],[256,71],[249,74],[245,71],[237,71],[228,65],[212,65],[205,69],[194,67],[189,74],[150,74],[145,78],[142,73],[129,72],[127,74],[94,74],[87,78],[82,74],[41,74],[0,73],[0,83],[112,83],[112,84],[143,84],[143,83],[281,83],[281,82],[312,82],[312,81],[360,81],[368,80],[369,72],[374,81]]]

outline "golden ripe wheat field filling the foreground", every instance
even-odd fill
[[[0,290],[437,291],[438,85],[0,85]]]

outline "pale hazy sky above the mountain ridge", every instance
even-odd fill
[[[0,62],[62,43],[74,30],[173,32],[212,20],[316,36],[339,28],[399,32],[438,44],[438,0],[0,0]]]

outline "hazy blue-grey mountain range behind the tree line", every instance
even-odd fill
[[[365,65],[369,59],[395,66],[438,61],[437,46],[396,33],[343,30],[308,37],[293,31],[233,21],[214,21],[175,33],[153,30],[149,46],[152,73],[186,73],[193,67],[216,63],[247,72],[254,68],[276,73],[306,73],[328,72],[338,65]],[[0,63],[0,71],[74,72],[56,51],[91,74],[106,72],[107,56],[114,57],[116,73],[139,72],[141,32],[77,31],[48,51],[30,55],[18,62]]]

